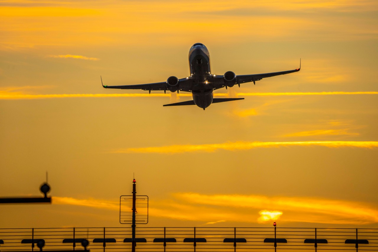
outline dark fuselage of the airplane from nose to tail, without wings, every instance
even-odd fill
[[[189,68],[193,101],[198,107],[205,109],[213,101],[213,88],[208,83],[212,77],[210,54],[203,44],[194,44],[189,50]]]

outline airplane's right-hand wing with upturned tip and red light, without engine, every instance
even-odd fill
[[[236,75],[235,84],[238,84],[239,86],[240,84],[246,83],[246,82],[253,82],[253,84],[256,84],[256,81],[259,81],[263,78],[273,77],[277,75],[286,75],[288,73],[298,72],[299,70],[301,70],[301,62],[299,62],[299,68],[294,69],[294,70],[287,70],[287,71],[273,72],[273,73],[259,73],[259,74],[254,74],[254,75]],[[217,75],[215,79],[217,79],[217,81],[215,81],[214,83],[215,85],[213,84],[214,90],[227,86],[225,81],[223,80],[223,75]]]

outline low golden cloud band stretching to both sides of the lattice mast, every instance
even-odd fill
[[[119,202],[100,199],[53,197],[53,204],[119,211]],[[149,214],[170,219],[203,221],[208,225],[226,221],[264,223],[277,218],[282,222],[328,224],[359,225],[378,222],[378,208],[363,202],[241,194],[174,193],[164,200],[151,200]]]

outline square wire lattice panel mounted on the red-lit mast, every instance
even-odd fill
[[[135,200],[135,223],[147,224],[148,222],[148,196],[136,195]],[[133,222],[133,196],[122,195],[119,199],[119,222],[132,224]]]

